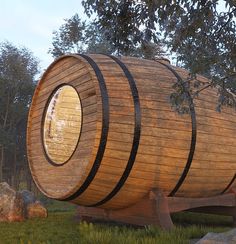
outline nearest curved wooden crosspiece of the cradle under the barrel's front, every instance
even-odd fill
[[[94,207],[79,207],[78,213],[83,220],[92,217],[138,226],[157,225],[166,230],[170,230],[174,226],[168,209],[167,197],[157,190],[153,190],[140,202],[128,208],[105,210]]]

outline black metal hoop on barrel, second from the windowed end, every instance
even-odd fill
[[[135,80],[134,80],[132,74],[130,73],[130,71],[128,70],[128,68],[126,67],[126,65],[120,59],[110,56],[110,55],[106,55],[106,56],[112,58],[121,67],[126,78],[128,79],[130,90],[131,90],[131,93],[133,96],[133,103],[134,103],[134,113],[135,113],[135,115],[134,115],[134,117],[135,117],[134,138],[133,138],[132,149],[130,152],[130,157],[129,157],[128,163],[126,165],[126,168],[125,168],[120,180],[118,181],[116,186],[113,188],[113,190],[104,199],[102,199],[101,201],[99,201],[93,205],[90,205],[90,207],[96,207],[96,206],[99,206],[99,205],[102,205],[102,204],[108,202],[123,187],[123,185],[125,184],[126,180],[129,177],[129,174],[134,165],[138,147],[139,147],[139,140],[140,140],[140,133],[141,133],[141,109],[140,109],[138,89],[136,87]]]

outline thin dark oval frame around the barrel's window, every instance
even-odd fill
[[[76,142],[76,144],[75,144],[74,150],[73,150],[73,152],[71,153],[70,157],[69,157],[65,162],[63,162],[63,163],[55,163],[55,162],[50,158],[50,156],[48,155],[47,150],[46,150],[46,148],[45,148],[45,142],[44,142],[44,125],[45,125],[45,120],[46,120],[46,115],[47,115],[48,106],[49,106],[49,104],[50,104],[50,102],[51,102],[53,96],[55,95],[55,93],[56,93],[60,88],[62,88],[62,87],[64,87],[64,86],[70,86],[70,87],[72,87],[73,90],[74,90],[74,91],[76,92],[76,94],[78,95],[78,99],[79,99],[79,101],[80,101],[80,106],[81,106],[81,104],[82,104],[82,102],[81,102],[81,98],[80,98],[80,95],[79,95],[79,92],[77,91],[77,89],[76,89],[73,85],[71,85],[71,84],[69,84],[69,83],[62,83],[62,84],[60,84],[59,86],[55,87],[54,90],[52,91],[52,93],[50,94],[50,96],[49,96],[48,99],[47,99],[45,108],[44,108],[44,110],[43,110],[42,121],[41,121],[41,129],[40,129],[40,133],[41,133],[41,143],[42,143],[42,145],[43,145],[44,156],[46,157],[48,163],[52,164],[52,165],[55,166],[55,167],[61,167],[61,166],[65,165],[65,164],[67,164],[67,163],[71,160],[71,158],[74,156],[74,154],[75,154],[75,152],[76,152],[76,149],[77,149],[77,147],[78,147],[78,145],[79,145],[80,137],[81,137],[81,134],[82,134],[82,133],[81,133],[81,130],[82,130],[82,125],[83,125],[83,109],[81,108],[80,133],[79,133],[77,142]]]

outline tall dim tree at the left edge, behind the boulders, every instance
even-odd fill
[[[27,162],[27,115],[37,73],[38,61],[29,50],[0,44],[0,181],[14,186]]]

